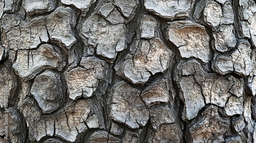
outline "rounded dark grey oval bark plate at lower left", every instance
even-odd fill
[[[45,71],[34,79],[31,94],[43,113],[51,113],[59,107],[63,98],[60,76],[52,71]]]

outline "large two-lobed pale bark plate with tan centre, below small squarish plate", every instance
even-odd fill
[[[151,75],[163,73],[169,66],[174,53],[159,38],[137,40],[123,63],[115,66],[117,74],[134,84],[144,84]]]

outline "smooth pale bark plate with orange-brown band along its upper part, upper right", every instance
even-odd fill
[[[209,61],[209,36],[205,28],[192,21],[169,22],[167,39],[174,43],[183,58],[195,57]]]

